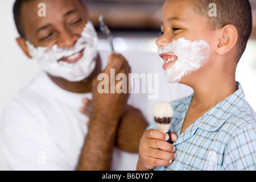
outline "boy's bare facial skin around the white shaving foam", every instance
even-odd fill
[[[209,44],[210,48],[216,45],[216,40],[214,40],[214,37],[216,37],[214,35],[215,32],[210,31],[207,19],[197,15],[192,10],[189,3],[190,1],[188,0],[167,0],[164,3],[161,22],[163,35],[156,40],[156,45],[159,48],[168,46],[170,42],[180,38],[185,38],[192,42],[195,40],[204,40]],[[167,54],[174,55],[174,52],[169,52]],[[212,49],[210,55],[214,55]],[[204,64],[204,67],[207,67],[207,64],[210,64],[210,59]],[[172,68],[176,61],[177,59],[168,65],[164,65],[163,69],[166,70]],[[193,78],[193,76],[199,74],[199,72],[202,72],[202,70],[198,69],[197,71],[192,72],[188,76],[183,77],[180,82],[186,84],[187,81],[189,81],[189,77]]]

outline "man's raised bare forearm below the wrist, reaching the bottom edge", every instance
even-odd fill
[[[104,115],[92,118],[77,170],[105,171],[110,169],[117,123],[118,121],[111,121],[108,116]]]

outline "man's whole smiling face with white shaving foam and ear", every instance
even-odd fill
[[[40,3],[46,6],[46,16],[38,15]],[[28,1],[22,6],[21,23],[27,40],[18,38],[19,46],[49,75],[69,82],[92,75],[98,38],[79,0]]]

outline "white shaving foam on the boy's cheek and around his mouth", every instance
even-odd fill
[[[208,61],[210,47],[204,40],[191,42],[185,38],[180,38],[168,46],[158,48],[158,53],[162,57],[167,81],[175,83]]]

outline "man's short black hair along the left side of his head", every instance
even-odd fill
[[[14,15],[14,21],[15,21],[15,25],[16,28],[19,32],[19,35],[22,36],[22,38],[26,39],[26,35],[25,32],[23,30],[23,26],[21,23],[21,9],[22,9],[22,5],[24,2],[29,2],[29,1],[35,1],[35,0],[16,0],[13,6],[13,15]],[[84,4],[85,0],[79,0],[81,2],[81,4]]]

